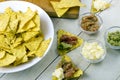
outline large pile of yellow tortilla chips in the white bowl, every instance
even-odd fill
[[[44,40],[37,11],[6,8],[0,13],[0,67],[42,57],[49,43],[50,39]]]

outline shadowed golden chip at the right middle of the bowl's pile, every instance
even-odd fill
[[[36,35],[38,35],[40,32],[31,32],[31,31],[27,31],[25,33],[22,34],[23,40],[24,41],[28,41],[31,38],[35,37]]]

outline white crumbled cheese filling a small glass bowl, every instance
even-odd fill
[[[89,60],[100,59],[104,49],[97,42],[85,42],[81,54]]]

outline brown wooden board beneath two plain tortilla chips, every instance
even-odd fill
[[[25,0],[31,3],[34,3],[44,9],[50,17],[57,17],[52,5],[50,4],[50,0]],[[52,0],[53,1],[53,0]],[[60,1],[60,0],[54,0]],[[70,8],[62,18],[78,18],[79,16],[79,7]]]

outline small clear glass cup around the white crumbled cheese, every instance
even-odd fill
[[[82,54],[82,48],[83,48],[85,42],[88,42],[88,43],[97,42],[98,45],[101,46],[101,47],[103,48],[103,50],[104,50],[103,55],[102,55],[99,59],[87,59],[87,58],[85,58],[84,55]],[[80,54],[81,54],[81,56],[82,56],[86,61],[88,61],[88,62],[90,62],[90,63],[98,63],[98,62],[101,62],[102,60],[104,60],[104,58],[105,58],[105,56],[106,56],[106,48],[105,48],[105,46],[103,45],[103,43],[100,42],[99,40],[89,39],[89,40],[84,41],[84,43],[82,44],[81,49],[80,49]]]

